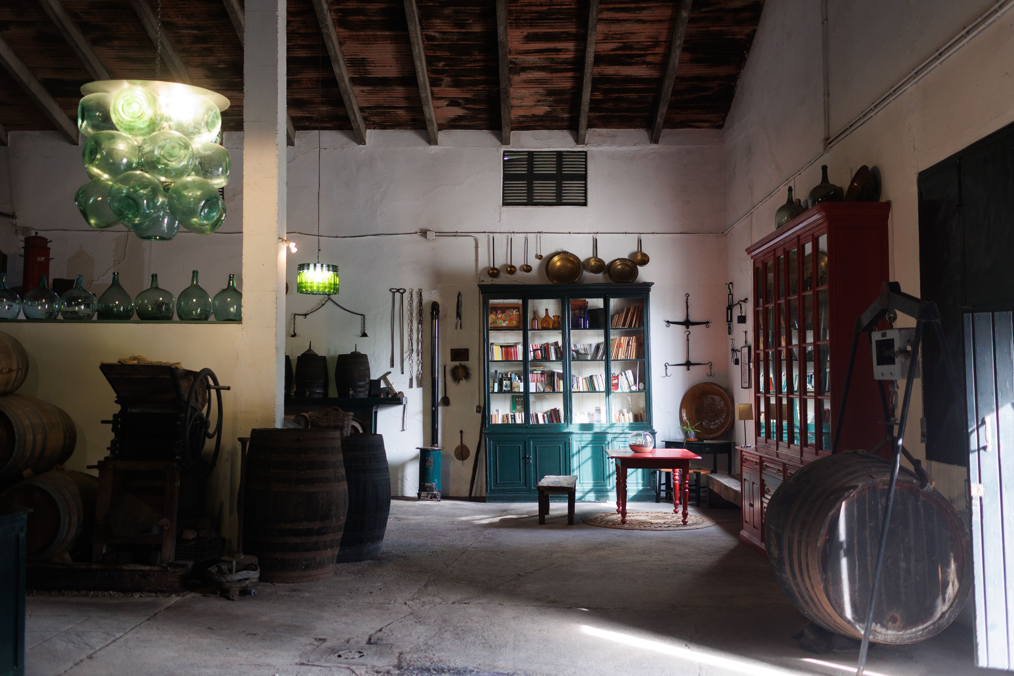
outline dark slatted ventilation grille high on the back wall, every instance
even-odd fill
[[[505,207],[587,206],[587,152],[505,150],[503,159]]]

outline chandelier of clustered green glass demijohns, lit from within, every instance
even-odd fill
[[[158,80],[99,80],[81,87],[77,126],[91,180],[74,196],[89,226],[123,223],[142,239],[172,239],[180,227],[211,234],[225,220],[218,189],[229,151],[217,143],[229,99]]]

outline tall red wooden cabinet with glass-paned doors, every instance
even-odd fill
[[[760,550],[771,495],[787,472],[830,454],[856,319],[889,275],[889,202],[819,204],[746,249],[756,445],[741,455],[740,538]],[[841,450],[883,438],[872,368],[861,341]]]

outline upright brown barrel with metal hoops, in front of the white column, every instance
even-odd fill
[[[335,574],[349,492],[338,430],[250,431],[243,547],[265,582]]]

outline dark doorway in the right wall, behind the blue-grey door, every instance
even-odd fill
[[[923,355],[926,457],[966,465],[964,312],[1014,309],[1014,125],[919,173],[920,296],[936,301],[947,341],[934,331]],[[963,390],[963,385],[959,384]]]

